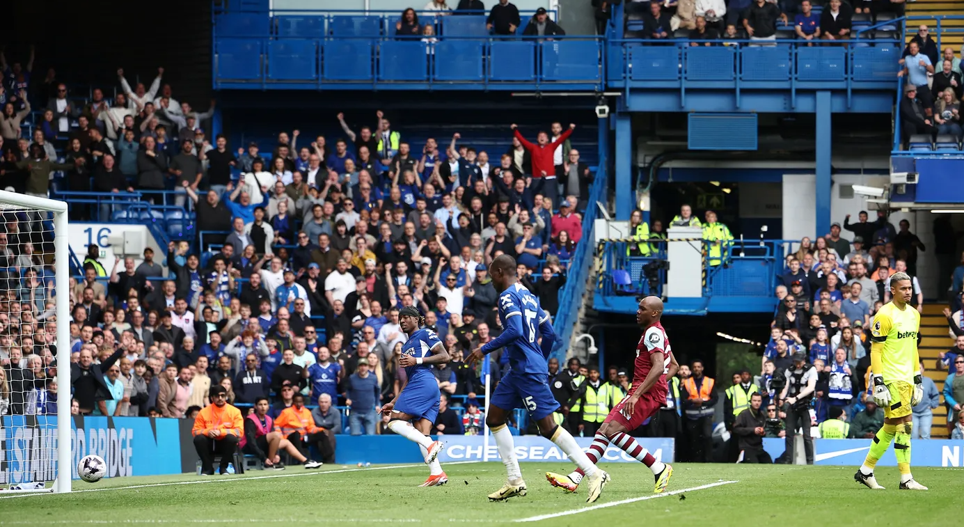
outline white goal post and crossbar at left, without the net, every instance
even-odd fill
[[[0,191],[0,204],[49,212],[54,224],[54,279],[58,294],[57,313],[57,479],[46,492],[69,492],[73,467],[70,442],[70,249],[67,232],[67,202],[26,194]]]

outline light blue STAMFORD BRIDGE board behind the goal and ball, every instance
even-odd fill
[[[74,416],[70,427],[70,477],[88,454],[107,462],[107,475],[179,474],[178,419]],[[57,475],[57,418],[8,415],[0,430],[0,484],[53,481]]]

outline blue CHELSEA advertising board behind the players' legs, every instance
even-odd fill
[[[485,437],[482,435],[440,435],[438,438],[445,443],[445,448],[439,455],[439,461],[442,463],[483,460]],[[541,435],[515,435],[513,439],[519,461],[566,461],[568,459],[555,443]],[[657,460],[673,461],[674,439],[637,437],[636,440]],[[582,450],[589,450],[592,442],[592,437],[576,437],[576,443],[582,447]],[[499,461],[495,441],[490,440],[488,454],[489,461]],[[343,464],[424,462],[416,445],[398,435],[338,435],[335,461]],[[628,454],[613,446],[606,449],[604,461],[635,462]]]

